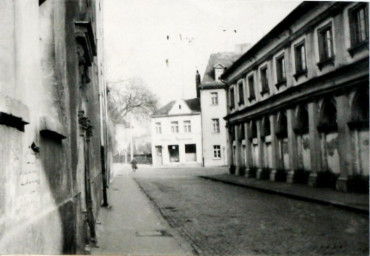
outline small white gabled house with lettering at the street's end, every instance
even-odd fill
[[[152,116],[154,166],[200,166],[202,132],[199,98],[171,101]]]

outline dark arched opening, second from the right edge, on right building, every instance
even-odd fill
[[[333,99],[324,100],[317,129],[324,133],[337,131],[337,108]]]

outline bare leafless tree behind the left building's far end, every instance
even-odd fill
[[[135,119],[148,118],[156,109],[157,97],[145,85],[141,78],[109,84],[109,112],[115,123],[126,123],[127,115]]]

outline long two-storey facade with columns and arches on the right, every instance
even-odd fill
[[[368,31],[368,3],[303,2],[224,73],[232,171],[368,175]]]

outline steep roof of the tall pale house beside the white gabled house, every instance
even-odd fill
[[[204,72],[203,85],[223,85],[220,81],[215,81],[214,68],[218,65],[228,68],[231,64],[240,57],[240,53],[235,52],[218,52],[209,56],[206,71]]]

